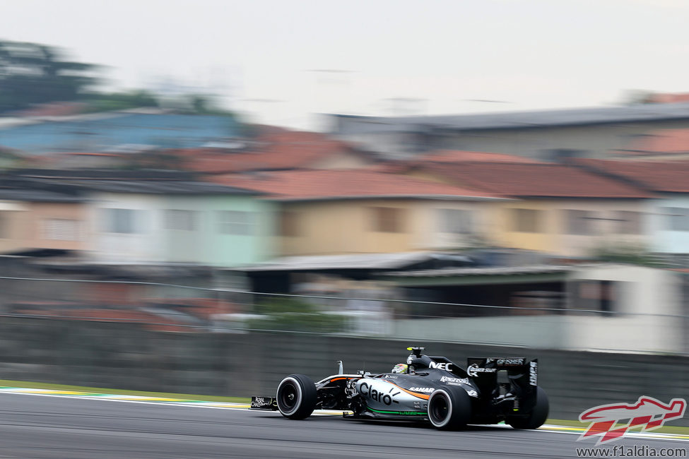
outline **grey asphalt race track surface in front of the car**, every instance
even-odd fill
[[[291,421],[278,413],[0,393],[0,458],[575,458],[594,441],[549,431],[338,416]],[[616,444],[686,448],[686,441]]]

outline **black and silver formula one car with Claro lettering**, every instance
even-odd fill
[[[446,357],[421,354],[408,347],[406,364],[390,373],[338,374],[314,383],[290,374],[275,398],[252,397],[251,410],[279,410],[290,419],[305,419],[314,410],[342,410],[359,419],[428,420],[437,429],[466,424],[497,424],[536,429],[548,417],[548,396],[538,387],[538,360],[524,357],[469,357],[466,369]]]

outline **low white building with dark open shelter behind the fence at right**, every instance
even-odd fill
[[[689,322],[685,273],[591,264],[444,268],[383,273],[405,298],[392,336],[542,349],[683,353]],[[464,305],[462,305],[464,304]],[[497,306],[497,307],[496,307]]]

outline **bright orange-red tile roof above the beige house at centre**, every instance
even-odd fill
[[[368,197],[452,196],[501,198],[499,193],[465,189],[434,181],[366,169],[328,169],[226,174],[209,178],[218,184],[269,193],[283,201]]]

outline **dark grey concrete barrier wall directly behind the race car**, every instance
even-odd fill
[[[319,379],[345,371],[389,371],[408,345],[464,365],[469,356],[539,359],[550,417],[576,419],[603,403],[689,395],[689,357],[568,352],[305,333],[172,333],[136,324],[2,318],[0,378],[102,388],[211,395],[271,395],[283,376]],[[689,425],[689,420],[673,422]]]

